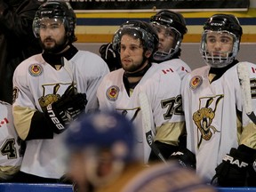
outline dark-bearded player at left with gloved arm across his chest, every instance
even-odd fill
[[[72,45],[75,25],[75,12],[64,1],[41,5],[33,27],[44,52],[24,60],[14,73],[14,124],[27,140],[20,169],[24,182],[59,179],[65,172],[60,140],[66,125],[98,108],[96,89],[108,66]]]

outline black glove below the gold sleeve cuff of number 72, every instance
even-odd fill
[[[172,153],[169,159],[178,161],[185,168],[196,169],[196,156],[188,148],[180,148],[177,152]]]

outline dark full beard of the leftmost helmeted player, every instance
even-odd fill
[[[64,36],[59,42],[56,42],[54,39],[51,37],[48,37],[45,40],[51,40],[54,42],[54,45],[52,47],[46,46],[42,40],[40,40],[40,44],[42,48],[44,49],[44,52],[49,52],[49,53],[59,53],[63,51],[67,46],[68,46],[68,36]]]

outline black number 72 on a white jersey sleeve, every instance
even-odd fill
[[[176,98],[162,100],[161,106],[162,108],[167,108],[166,113],[164,113],[164,119],[171,119],[173,114],[182,116],[184,115],[182,110],[181,95],[178,95]]]

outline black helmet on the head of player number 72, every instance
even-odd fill
[[[112,46],[117,52],[120,52],[121,38],[125,34],[132,34],[134,38],[140,38],[141,44],[145,51],[149,51],[152,53],[156,51],[158,44],[157,34],[155,36],[152,35],[146,29],[141,28],[140,24],[129,24],[129,22],[126,22],[124,25],[121,26],[121,28],[116,31],[113,36]]]

